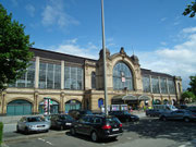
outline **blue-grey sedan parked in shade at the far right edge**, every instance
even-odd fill
[[[196,113],[182,109],[170,113],[161,113],[160,120],[184,120],[185,122],[189,122],[196,120]]]

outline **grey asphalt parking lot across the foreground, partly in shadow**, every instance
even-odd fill
[[[139,122],[123,124],[124,133],[117,140],[93,143],[88,136],[71,136],[68,131],[53,131],[24,135],[15,132],[4,133],[9,147],[33,146],[112,146],[112,147],[196,147],[196,122],[166,121],[156,118],[142,118]]]

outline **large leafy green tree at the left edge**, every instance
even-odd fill
[[[12,14],[0,3],[0,91],[14,83],[26,71],[33,53],[25,26],[12,21]]]

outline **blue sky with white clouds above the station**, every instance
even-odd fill
[[[98,59],[102,48],[101,0],[0,0],[25,25],[34,48]],[[196,17],[182,15],[191,0],[105,0],[106,47],[124,47],[140,68],[196,75]]]

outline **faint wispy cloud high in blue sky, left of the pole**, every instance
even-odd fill
[[[79,22],[65,13],[62,0],[50,0],[42,12],[42,25],[50,26],[57,24],[61,28],[70,24],[78,25]]]

